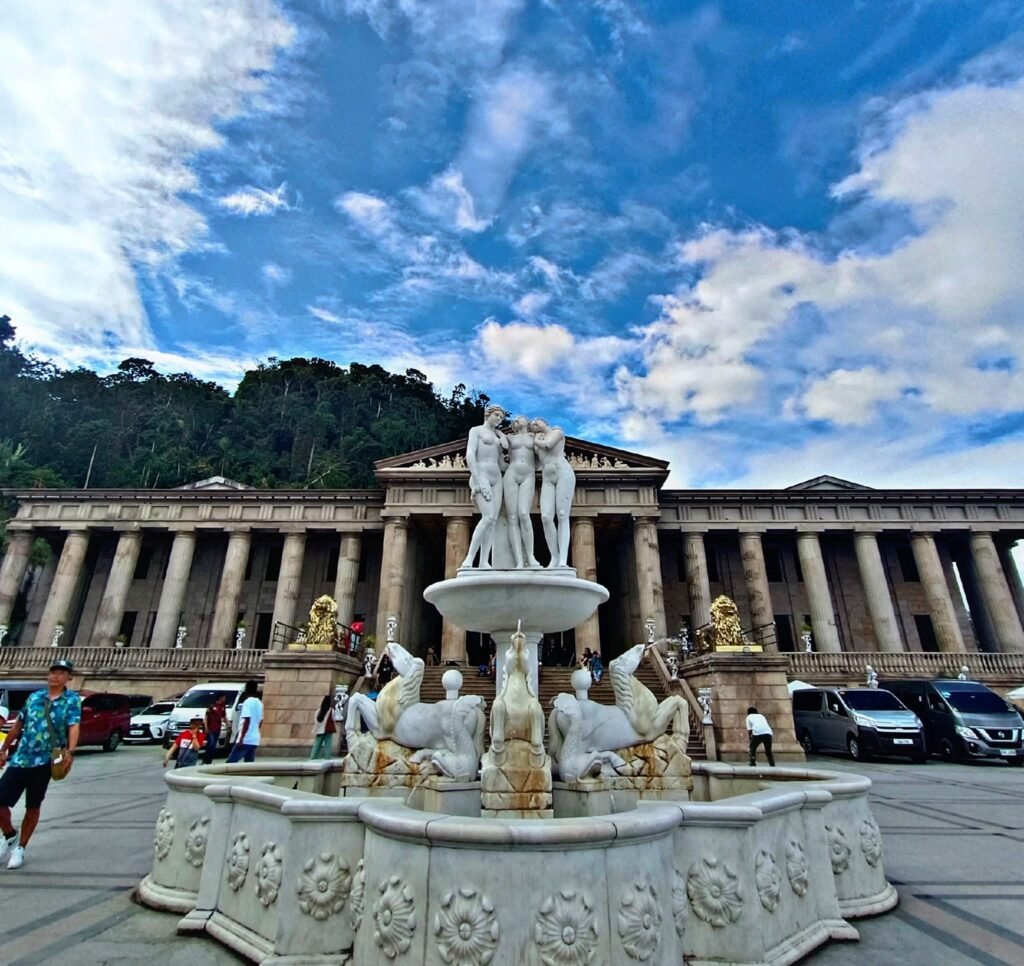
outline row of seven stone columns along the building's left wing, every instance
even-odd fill
[[[34,535],[29,530],[10,533],[7,553],[0,565],[0,625],[10,620],[14,601],[29,566]],[[118,537],[117,549],[111,572],[106,578],[99,610],[93,624],[90,644],[96,647],[113,646],[124,617],[128,592],[138,563],[142,531],[126,530]],[[229,647],[234,642],[239,607],[242,600],[246,565],[252,545],[252,532],[231,531],[220,575],[210,630],[211,647]],[[272,624],[294,626],[302,585],[302,568],[305,562],[306,535],[302,532],[285,536],[281,571],[274,597]],[[57,560],[49,595],[36,632],[35,645],[48,645],[58,625],[65,624],[72,613],[76,594],[85,569],[89,548],[87,530],[69,531]],[[184,610],[188,577],[196,552],[196,532],[178,531],[174,534],[167,573],[160,592],[157,618],[154,624],[152,647],[172,647]],[[338,574],[335,582],[335,599],[338,601],[338,621],[350,625],[354,618],[355,592],[359,575],[361,535],[341,535],[338,553]],[[70,643],[70,641],[65,641]]]

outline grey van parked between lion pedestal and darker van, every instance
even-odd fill
[[[808,687],[793,692],[797,740],[808,753],[847,752],[861,761],[871,755],[906,755],[928,760],[918,716],[878,687]]]

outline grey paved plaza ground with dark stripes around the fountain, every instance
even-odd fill
[[[0,870],[0,963],[215,966],[238,963],[214,942],[175,936],[176,916],[132,902],[153,856],[164,800],[158,748],[83,750],[51,786],[18,872]],[[857,924],[814,966],[954,966],[1024,962],[1024,770],[1002,764],[815,763],[867,774],[900,905]],[[19,817],[15,813],[16,820]]]

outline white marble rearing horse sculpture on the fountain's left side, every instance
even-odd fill
[[[420,702],[424,662],[401,644],[390,641],[385,653],[397,675],[385,684],[377,700],[352,695],[345,716],[345,737],[350,755],[360,744],[390,740],[413,749],[413,764],[429,762],[440,774],[457,781],[476,778],[483,754],[483,699],[478,695]],[[366,724],[370,736],[361,731]]]

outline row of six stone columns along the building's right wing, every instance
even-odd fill
[[[878,648],[885,652],[900,652],[904,647],[879,550],[879,533],[881,531],[856,531],[853,538],[854,549]],[[962,652],[965,649],[964,636],[956,619],[942,561],[939,558],[935,536],[932,533],[915,532],[910,536],[910,543],[939,649]],[[1024,652],[1024,629],[1019,616],[1020,611],[1024,611],[1021,606],[1024,603],[1024,588],[1021,587],[1020,575],[1013,564],[1009,551],[1000,554],[990,533],[972,533],[970,546],[982,600],[991,621],[998,649]],[[755,627],[770,624],[774,620],[774,615],[761,533],[740,533],[739,549],[752,622]],[[683,551],[690,599],[690,620],[694,627],[700,627],[711,620],[711,588],[703,534],[684,533]],[[812,531],[797,533],[797,555],[811,612],[815,648],[838,653],[842,646],[817,533]]]

